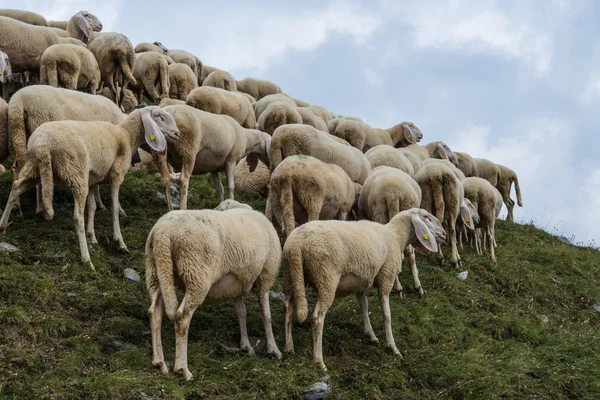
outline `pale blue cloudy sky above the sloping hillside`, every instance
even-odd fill
[[[236,79],[274,81],[294,97],[374,127],[412,121],[422,144],[443,140],[513,169],[524,203],[515,207],[518,222],[600,242],[598,1],[24,0],[19,6],[47,19],[88,10],[105,32],[123,33],[134,46],[158,40]]]

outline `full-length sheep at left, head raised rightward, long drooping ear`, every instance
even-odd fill
[[[114,240],[120,250],[127,251],[119,226],[119,187],[131,166],[131,155],[146,142],[154,151],[164,152],[164,135],[177,138],[173,118],[160,107],[136,110],[119,125],[110,122],[54,121],[38,127],[29,138],[27,161],[13,182],[0,229],[6,232],[12,206],[21,193],[41,183],[42,203],[46,219],[54,217],[52,195],[54,185],[66,186],[73,192],[73,219],[79,239],[81,261],[95,270],[88,251],[86,233],[91,243],[98,243],[94,232],[96,201],[90,188],[108,181],[112,200]],[[88,202],[87,232],[83,211]]]

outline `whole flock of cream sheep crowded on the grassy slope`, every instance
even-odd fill
[[[305,285],[316,295],[313,357],[323,370],[323,321],[335,297],[356,294],[365,335],[378,342],[364,293],[375,286],[385,343],[401,357],[389,294],[394,286],[402,290],[403,258],[423,295],[415,249],[443,259],[438,243],[448,240],[458,267],[457,242],[462,248],[467,239],[495,260],[494,221],[503,202],[513,219],[513,182],[522,206],[514,171],[453,152],[441,141],[420,145],[423,134],[412,122],[373,128],[295,99],[272,82],[238,81],[186,51],[160,42],[134,48],[124,35],[101,30],[87,11],[69,21],[46,21],[32,12],[0,10],[0,161],[13,161],[0,229],[6,230],[13,209],[20,210],[26,190],[37,188],[36,211],[50,220],[54,187],[69,188],[81,259],[93,269],[88,240],[97,243],[94,213],[105,209],[98,185],[110,185],[114,240],[126,250],[119,188],[132,158],[139,154],[142,165],[160,172],[169,210],[170,185],[178,182],[180,210],[162,216],[146,243],[152,363],[165,373],[163,314],[175,322],[174,371],[191,379],[188,328],[205,303],[234,301],[241,347],[253,353],[242,300],[253,287],[267,350],[281,357],[269,308],[280,270],[286,351],[294,351],[292,310],[299,321],[307,318]],[[158,105],[142,104],[142,96]],[[206,173],[219,206],[187,210],[190,177]],[[234,189],[266,196],[265,214],[233,200]],[[178,286],[185,290],[181,302]]]

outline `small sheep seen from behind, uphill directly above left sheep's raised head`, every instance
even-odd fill
[[[169,96],[168,67],[167,59],[158,52],[136,53],[133,77],[137,82],[131,87],[137,91],[138,103],[142,102],[144,90],[154,103]],[[158,85],[160,85],[160,93],[156,89]]]

